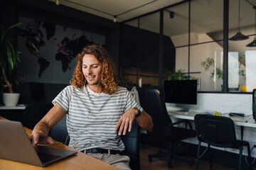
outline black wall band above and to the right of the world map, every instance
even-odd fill
[[[0,9],[0,22],[6,27],[17,23],[18,16],[26,16],[48,23],[105,35],[107,51],[118,67],[119,23],[61,4],[57,6],[54,2],[45,0],[4,0],[1,2]]]

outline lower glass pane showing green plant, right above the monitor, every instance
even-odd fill
[[[223,47],[218,42],[191,45],[191,77],[196,72],[199,91],[222,91]]]

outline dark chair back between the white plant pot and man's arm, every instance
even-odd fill
[[[52,107],[52,103],[35,103],[26,105],[22,121],[23,126],[33,130],[36,123],[38,123]]]

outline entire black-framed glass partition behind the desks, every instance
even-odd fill
[[[256,47],[252,43],[256,29],[256,9],[252,7],[256,3],[229,0],[229,9],[224,9],[225,1],[184,1],[163,10],[163,80],[169,79],[165,74],[169,69],[168,74],[183,72],[191,79],[198,79],[198,91],[223,91],[223,82],[228,82],[228,91],[232,93],[256,89],[256,67],[253,67],[256,64]],[[225,23],[228,24],[228,33],[223,30],[224,10],[229,10],[229,23]],[[126,26],[122,29],[120,52],[122,60],[119,63],[122,68],[136,70],[135,82],[139,78],[145,80],[147,76],[154,79],[149,84],[158,84],[159,13],[124,23]],[[132,32],[125,33],[131,29]],[[224,81],[223,39],[231,38],[236,33],[242,33],[247,38],[228,40],[228,79]],[[146,72],[146,76],[143,72]]]

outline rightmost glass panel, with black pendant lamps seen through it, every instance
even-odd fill
[[[230,1],[229,91],[252,92],[252,89],[256,89],[256,46],[247,47],[255,38],[255,10],[250,1]],[[240,38],[236,37],[238,32],[240,32]]]

